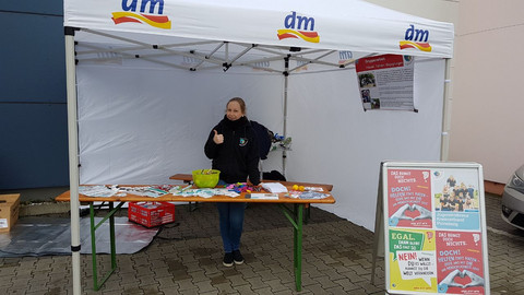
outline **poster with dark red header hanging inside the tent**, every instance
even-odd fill
[[[365,110],[415,109],[413,57],[383,55],[361,58],[355,67]]]

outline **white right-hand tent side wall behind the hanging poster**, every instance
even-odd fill
[[[373,231],[380,163],[440,160],[444,64],[416,62],[418,113],[364,111],[355,71],[291,76],[288,180],[333,184],[321,208]]]

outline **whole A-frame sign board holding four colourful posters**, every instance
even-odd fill
[[[489,294],[481,166],[386,162],[380,181],[388,293]]]

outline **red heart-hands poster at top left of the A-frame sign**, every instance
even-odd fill
[[[388,204],[390,226],[431,228],[430,170],[390,169]]]

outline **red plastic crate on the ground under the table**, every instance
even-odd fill
[[[130,202],[130,221],[146,227],[158,226],[175,221],[175,204],[169,202]]]

